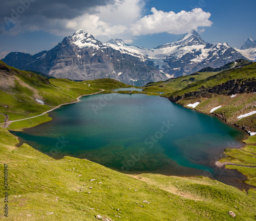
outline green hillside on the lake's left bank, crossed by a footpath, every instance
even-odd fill
[[[7,69],[7,71],[5,71]],[[60,104],[76,101],[77,97],[101,89],[111,91],[113,88],[129,85],[112,79],[73,82],[67,79],[47,79],[32,72],[22,71],[0,61],[0,113],[9,115],[9,120],[17,120],[39,115]],[[90,87],[89,87],[90,84]],[[40,105],[35,99],[45,103]],[[0,116],[1,122],[4,115]],[[29,120],[13,122],[8,129],[20,130],[36,126],[51,120],[47,115]]]

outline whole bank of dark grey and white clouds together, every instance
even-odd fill
[[[143,16],[145,0],[0,1],[3,2],[0,9],[0,34],[9,35],[42,30],[58,36],[69,36],[83,29],[95,37],[101,36],[101,40],[115,37],[132,43],[135,36],[162,32],[184,34],[191,29],[198,30],[199,27],[212,24],[209,20],[211,14],[200,8],[179,13],[152,8],[152,14]],[[25,2],[29,3],[27,7],[22,4]],[[18,10],[20,6],[24,7],[24,12]],[[17,13],[15,18],[12,12]],[[7,24],[8,29],[5,29],[3,25],[6,27]]]

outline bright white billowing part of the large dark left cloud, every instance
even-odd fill
[[[115,4],[98,6],[95,14],[83,14],[67,21],[66,28],[83,29],[94,36],[113,37],[125,33],[131,23],[141,17],[141,0],[115,0]]]

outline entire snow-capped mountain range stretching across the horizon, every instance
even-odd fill
[[[253,45],[254,41],[253,44],[247,42],[244,48],[250,49]],[[102,43],[78,30],[52,50],[35,55],[12,52],[2,60],[15,68],[35,70],[56,78],[112,78],[143,86],[148,82],[190,75],[208,66],[217,68],[238,59],[248,60],[246,53],[243,54],[248,48],[239,51],[227,43],[206,43],[195,30],[176,42],[152,49],[128,45],[121,39]]]

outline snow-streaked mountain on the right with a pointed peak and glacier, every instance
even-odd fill
[[[243,58],[239,52],[227,43],[206,43],[192,30],[178,41],[160,45],[147,51],[155,65],[172,77],[189,75],[204,67],[220,67],[234,60]]]

